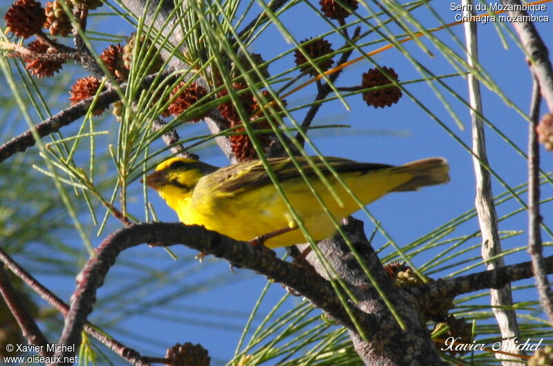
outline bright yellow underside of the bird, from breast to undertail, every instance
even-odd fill
[[[377,172],[365,175],[348,173],[341,176],[363,204],[377,200],[411,177],[407,174],[380,175]],[[315,190],[335,220],[359,210],[359,205],[338,182],[330,179],[330,184],[341,198],[342,206],[332,198],[320,180],[313,182]],[[305,182],[288,180],[283,182],[282,187],[313,240],[328,238],[335,232],[335,225]],[[182,202],[182,206],[176,211],[180,213],[179,218],[185,224],[203,225],[209,230],[243,241],[295,225],[288,206],[272,185],[237,193],[232,197],[204,193],[198,200],[193,195],[191,200]],[[265,245],[277,248],[306,241],[301,230],[296,229],[270,238]]]

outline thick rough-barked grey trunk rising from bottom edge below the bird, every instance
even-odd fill
[[[378,328],[371,329],[374,336],[368,341],[364,341],[355,331],[349,332],[359,356],[368,365],[441,365],[440,357],[422,320],[418,300],[392,285],[366,239],[363,222],[346,218],[342,221],[342,227],[407,328],[403,331],[397,324],[341,236],[335,235],[334,238],[323,240],[319,243],[319,249],[359,300],[355,306],[367,314],[375,315],[378,320]],[[310,253],[306,259],[322,276],[327,277],[315,253]]]

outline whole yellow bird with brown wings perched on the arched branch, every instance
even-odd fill
[[[319,157],[312,157],[312,160],[341,202],[332,196],[306,158],[295,159],[336,220],[359,210],[359,205]],[[422,186],[449,181],[449,166],[441,157],[402,166],[354,162],[338,157],[325,159],[363,204],[388,192],[415,191]],[[323,240],[332,235],[334,224],[292,159],[275,157],[268,162],[311,237]],[[185,224],[203,225],[230,238],[263,242],[270,248],[307,241],[260,160],[218,168],[185,157],[172,157],[147,176],[146,184],[158,191]]]

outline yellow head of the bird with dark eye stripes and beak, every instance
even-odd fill
[[[187,157],[171,157],[156,166],[156,171],[147,175],[146,184],[163,193],[189,193],[201,177],[216,171],[216,166],[198,162]]]

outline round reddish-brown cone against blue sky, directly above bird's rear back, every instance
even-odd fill
[[[386,73],[388,73],[388,75],[390,75],[393,79],[399,81],[399,79],[397,79],[397,73],[395,73],[393,68],[387,68],[384,66],[382,67],[382,70],[385,70]],[[388,79],[386,75],[376,68],[371,68],[368,72],[363,74],[362,87],[364,89],[387,84],[391,84],[390,79]],[[384,108],[384,106],[389,107],[392,104],[397,103],[401,97],[402,90],[395,85],[363,93],[363,99],[366,104],[368,106],[374,106],[375,108]]]

